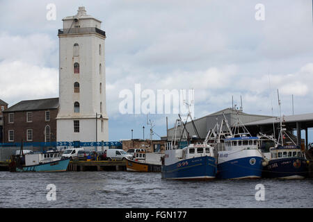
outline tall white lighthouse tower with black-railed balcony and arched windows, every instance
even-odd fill
[[[58,30],[59,110],[56,117],[58,142],[106,142],[109,140],[106,114],[106,73],[101,21],[86,15],[63,19]]]

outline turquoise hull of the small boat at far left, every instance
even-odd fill
[[[66,171],[70,159],[48,162],[29,167],[16,168],[17,172],[59,172]]]

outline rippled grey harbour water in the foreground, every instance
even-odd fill
[[[47,200],[47,185],[56,200]],[[265,200],[255,186],[264,185]],[[313,180],[161,180],[161,173],[0,172],[0,207],[313,207]]]

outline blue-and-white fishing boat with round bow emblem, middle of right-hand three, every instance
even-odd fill
[[[228,130],[230,127],[225,119]],[[243,130],[243,133],[240,131]],[[237,122],[224,140],[224,150],[218,151],[219,179],[261,178],[264,156],[259,137],[252,137],[238,115]]]

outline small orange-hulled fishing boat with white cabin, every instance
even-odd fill
[[[146,153],[139,151],[134,153],[133,160],[126,160],[127,171],[136,172],[161,172],[161,157],[163,153]]]

